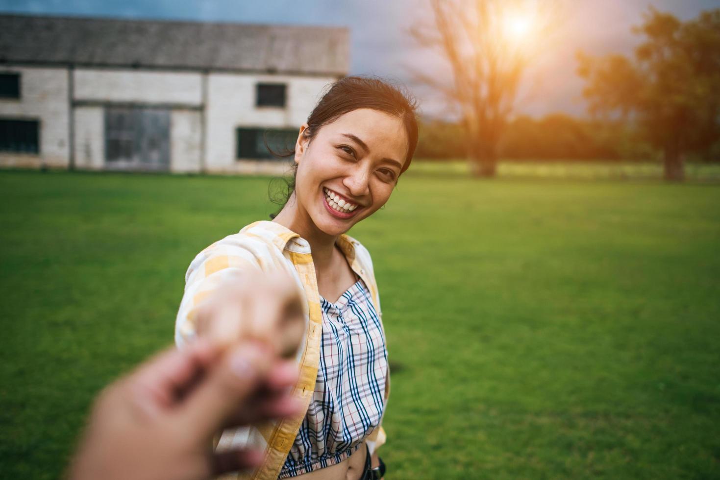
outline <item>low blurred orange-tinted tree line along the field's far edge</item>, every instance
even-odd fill
[[[424,120],[416,158],[467,158],[461,124]],[[549,114],[539,119],[521,116],[510,120],[498,142],[498,158],[518,160],[622,160],[662,159],[646,135],[631,122],[584,119]],[[720,142],[688,155],[696,162],[720,163]]]

